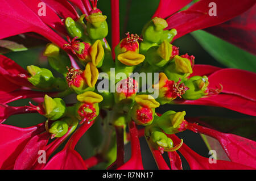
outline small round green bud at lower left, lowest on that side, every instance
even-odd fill
[[[62,137],[68,132],[68,124],[63,120],[55,121],[52,123],[48,132],[52,134],[51,138]]]

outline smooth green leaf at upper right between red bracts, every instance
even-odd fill
[[[256,56],[202,30],[191,33],[217,61],[229,68],[256,72]]]

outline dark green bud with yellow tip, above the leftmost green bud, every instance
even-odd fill
[[[44,50],[44,56],[48,57],[49,65],[56,71],[59,71],[61,74],[67,73],[67,66],[71,66],[71,61],[67,56],[67,53],[64,53],[59,47],[55,44],[48,43],[46,45],[46,50]]]

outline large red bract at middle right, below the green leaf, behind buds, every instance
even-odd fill
[[[255,94],[252,93],[255,91],[255,73],[239,69],[195,65],[192,76],[194,75],[208,75],[210,89],[216,89],[221,84],[223,86],[221,94],[197,100],[175,100],[177,103],[225,107],[256,116],[256,99]]]

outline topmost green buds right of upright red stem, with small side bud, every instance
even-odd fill
[[[158,17],[145,24],[142,30],[144,41],[140,47],[142,54],[146,53],[151,47],[161,44],[164,40],[168,41],[168,43],[172,41],[174,36],[177,35],[177,31],[175,29],[164,30],[167,26],[166,20]]]

